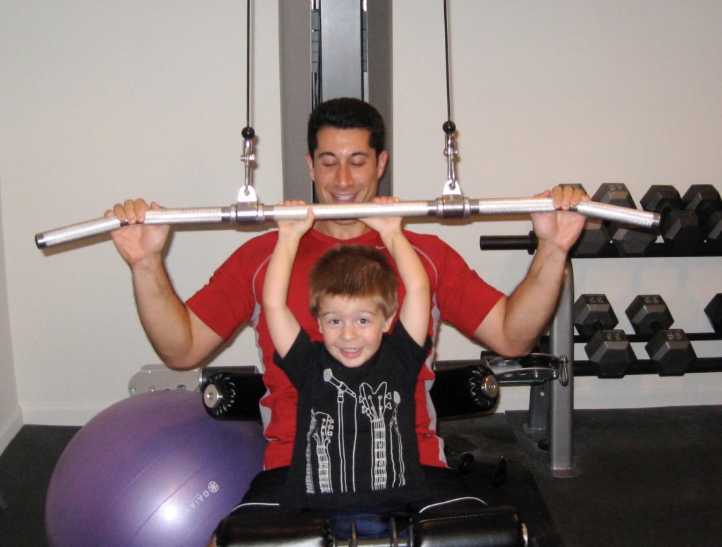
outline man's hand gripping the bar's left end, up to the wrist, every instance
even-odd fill
[[[170,226],[168,224],[143,224],[148,209],[162,209],[154,202],[148,206],[143,199],[128,199],[123,204],[116,204],[112,210],[105,211],[105,216],[116,218],[128,225],[110,232],[110,237],[123,260],[131,268],[148,258],[157,259],[168,241]]]

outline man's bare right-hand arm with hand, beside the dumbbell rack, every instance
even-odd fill
[[[567,253],[578,239],[585,218],[568,211],[588,199],[572,186],[557,186],[552,196],[556,213],[532,215],[539,244],[529,271],[509,297],[502,297],[474,331],[474,338],[505,356],[526,355],[536,345],[557,306]]]

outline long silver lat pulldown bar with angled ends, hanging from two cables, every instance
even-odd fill
[[[445,195],[434,201],[398,201],[392,204],[311,204],[302,206],[264,205],[256,201],[239,201],[229,207],[195,207],[159,209],[146,212],[144,224],[263,224],[278,220],[303,219],[310,207],[319,220],[359,219],[369,216],[467,216],[546,213],[556,209],[552,198],[470,199]],[[659,215],[595,201],[582,201],[573,207],[584,216],[644,228],[656,227]],[[105,234],[120,228],[114,216],[103,216],[79,224],[35,235],[35,245],[44,249],[86,237]]]

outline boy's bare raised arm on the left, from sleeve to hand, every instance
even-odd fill
[[[299,205],[303,202],[287,201],[284,204]],[[288,286],[301,236],[308,232],[311,226],[313,226],[313,212],[310,209],[308,216],[303,220],[279,222],[278,241],[266,271],[263,299],[266,324],[271,334],[271,341],[282,358],[291,349],[301,328],[288,307]]]

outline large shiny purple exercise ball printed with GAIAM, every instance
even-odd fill
[[[50,547],[201,547],[263,467],[251,421],[214,420],[200,393],[106,408],[61,455],[45,500]]]

